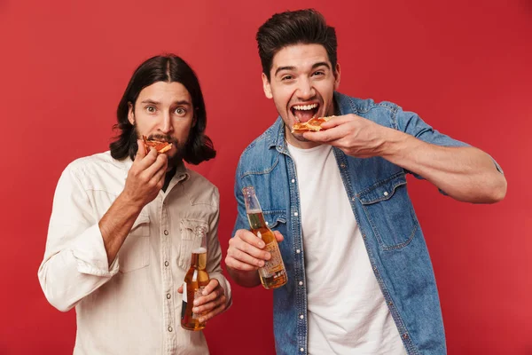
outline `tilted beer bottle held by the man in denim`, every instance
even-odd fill
[[[251,232],[264,241],[265,251],[271,254],[270,260],[264,261],[264,266],[259,268],[262,286],[264,288],[279,288],[286,284],[288,276],[286,275],[285,263],[279,250],[278,242],[275,235],[264,222],[261,205],[254,192],[253,186],[244,187],[244,201],[246,203],[247,220],[251,227]]]

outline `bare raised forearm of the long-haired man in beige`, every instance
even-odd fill
[[[141,205],[120,194],[99,221],[108,264],[113,263],[141,210]]]

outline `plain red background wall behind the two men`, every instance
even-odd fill
[[[197,170],[221,192],[227,250],[244,147],[277,116],[262,94],[256,29],[274,12],[316,7],[336,27],[340,91],[390,100],[492,154],[508,193],[452,201],[411,179],[450,354],[532,353],[532,2],[0,0],[0,354],[72,353],[75,313],[37,280],[59,174],[107,149],[133,70],[175,52],[200,76],[218,156]],[[274,353],[271,294],[233,284],[206,330],[213,354]],[[139,304],[139,306],[142,306]]]

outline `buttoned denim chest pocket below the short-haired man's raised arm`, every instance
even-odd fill
[[[403,173],[379,181],[358,193],[357,197],[380,248],[392,250],[410,243],[419,224]]]

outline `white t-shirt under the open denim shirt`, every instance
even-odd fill
[[[301,199],[309,354],[406,354],[331,146],[288,145]]]

